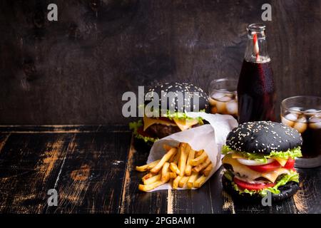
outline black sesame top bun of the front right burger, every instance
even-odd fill
[[[294,128],[270,121],[248,122],[234,128],[226,139],[232,150],[270,154],[302,145],[302,137]]]

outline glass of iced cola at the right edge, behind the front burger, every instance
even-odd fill
[[[302,135],[302,157],[297,158],[295,166],[321,166],[321,98],[295,96],[282,100],[281,120]]]

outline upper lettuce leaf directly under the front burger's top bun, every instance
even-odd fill
[[[270,155],[263,155],[257,153],[235,151],[232,150],[228,145],[223,145],[222,154],[227,155],[229,152],[235,152],[236,154],[241,155],[242,157],[245,157],[249,160],[256,160],[260,162],[267,162],[267,159],[271,157],[280,157],[284,159],[287,159],[289,157],[302,157],[301,147],[295,147],[287,151],[272,151],[270,152]]]

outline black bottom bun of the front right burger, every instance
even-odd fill
[[[246,200],[250,202],[261,201],[263,197],[258,194],[250,195],[248,193],[239,193],[233,188],[232,182],[228,180],[224,175],[222,177],[222,185],[223,188],[228,194],[230,194],[234,199]],[[295,195],[297,190],[299,190],[299,183],[297,182],[287,182],[286,185],[282,185],[278,188],[280,190],[280,194],[272,194],[272,202],[277,202],[283,199],[287,199]]]

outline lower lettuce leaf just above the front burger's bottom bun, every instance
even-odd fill
[[[290,174],[282,176],[280,180],[277,180],[276,185],[274,185],[273,187],[267,187],[264,190],[247,190],[247,189],[243,190],[243,189],[240,189],[238,185],[235,184],[235,182],[232,182],[232,186],[234,187],[234,190],[238,191],[239,194],[243,194],[243,193],[247,193],[250,195],[259,194],[260,196],[265,197],[267,195],[267,192],[271,192],[272,194],[280,194],[280,190],[278,190],[278,187],[285,185],[287,182],[290,182],[290,181],[299,182],[299,174],[295,171],[290,170]]]

